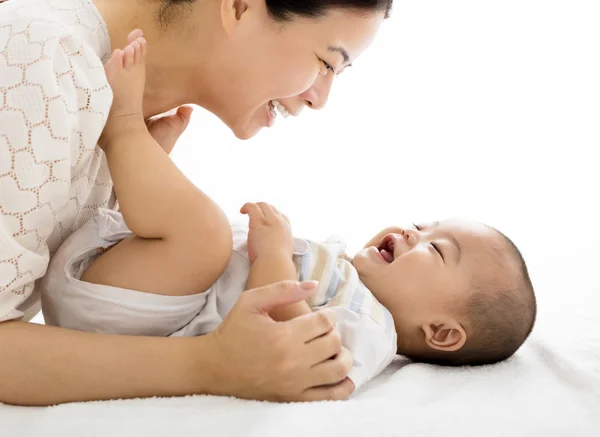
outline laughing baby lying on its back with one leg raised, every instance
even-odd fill
[[[332,308],[358,388],[401,354],[441,365],[510,357],[532,330],[527,267],[500,232],[464,220],[390,227],[353,259],[337,241],[294,239],[289,220],[247,203],[249,229],[173,165],[144,124],[146,42],[138,33],[106,64],[114,102],[100,147],[121,212],[101,210],[53,257],[41,282],[46,322],[129,335],[212,332],[244,290],[316,280],[275,320]],[[271,103],[267,103],[271,105]],[[232,250],[233,247],[233,250]]]

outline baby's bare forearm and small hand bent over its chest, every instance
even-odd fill
[[[252,265],[246,289],[290,279],[298,280],[292,260],[293,238],[289,220],[276,208],[266,203],[247,203],[241,211],[250,217],[248,256]],[[273,320],[285,321],[309,314],[305,301],[277,307],[269,315]]]

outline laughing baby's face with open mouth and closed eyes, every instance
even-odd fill
[[[392,313],[399,333],[424,324],[461,323],[457,303],[468,297],[474,274],[486,274],[485,246],[498,236],[479,223],[444,220],[390,227],[355,257],[360,279]]]

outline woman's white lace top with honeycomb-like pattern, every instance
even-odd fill
[[[96,147],[109,56],[91,0],[0,0],[0,321],[39,311],[50,257],[114,203]]]

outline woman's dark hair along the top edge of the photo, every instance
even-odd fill
[[[160,22],[168,23],[179,9],[195,0],[162,0]],[[330,9],[350,9],[357,12],[383,12],[388,18],[394,0],[265,0],[273,19],[287,21],[294,16],[306,18],[322,17]]]

